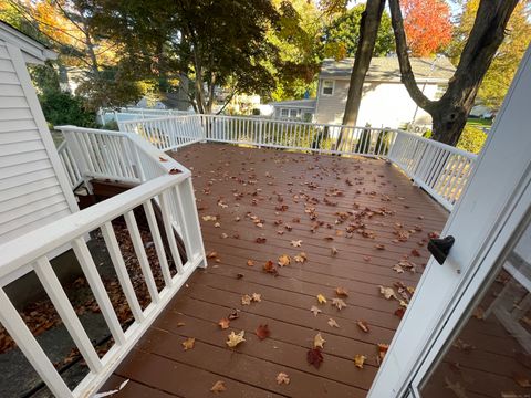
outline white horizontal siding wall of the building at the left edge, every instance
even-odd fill
[[[0,244],[77,210],[60,167],[22,53],[0,40]]]

